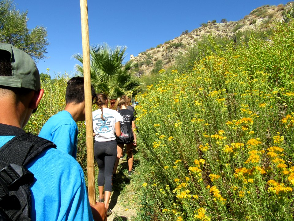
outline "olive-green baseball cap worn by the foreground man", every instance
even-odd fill
[[[3,53],[2,50],[11,55],[12,76],[0,76],[0,85],[39,91],[41,88],[40,74],[34,60],[11,44],[0,43],[0,54]]]

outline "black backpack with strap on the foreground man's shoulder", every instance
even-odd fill
[[[25,165],[45,149],[55,147],[48,140],[24,133],[0,148],[0,220],[31,220],[29,186],[34,175]],[[9,219],[3,218],[6,215]]]

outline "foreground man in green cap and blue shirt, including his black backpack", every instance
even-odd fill
[[[28,189],[25,195],[17,194],[11,197],[3,196],[5,191],[1,192],[0,218],[5,220],[3,211],[5,213],[5,209],[13,207],[16,212],[19,212],[20,217],[24,218],[19,220],[80,221],[93,220],[93,215],[95,220],[106,220],[106,211],[101,204],[90,207],[84,173],[79,163],[68,154],[55,149],[52,142],[25,133],[23,130],[32,113],[36,112],[43,93],[44,90],[40,87],[39,71],[32,58],[10,44],[0,43],[0,169],[4,168],[0,173],[2,184],[0,188],[6,186],[6,191],[9,193],[13,191],[9,188],[11,183],[4,181],[7,176],[2,176],[3,171],[10,169],[11,172],[14,171],[10,175],[18,174],[16,176],[18,178],[14,180],[20,182],[14,185],[21,187],[17,191]],[[25,136],[28,136],[29,139],[20,140]],[[15,140],[20,141],[20,145],[13,147],[14,152],[7,156],[12,162],[3,165],[4,151],[7,148],[11,149],[10,144]],[[26,160],[22,159],[24,162],[19,163],[19,166],[22,165],[21,169],[24,174],[29,176],[22,176],[13,169],[17,166],[14,165],[14,162],[23,155],[23,152],[31,154],[31,149],[38,147],[39,150],[44,145],[46,149],[42,149],[39,155],[33,158],[26,155],[24,156]],[[16,168],[20,168],[19,166]],[[32,180],[32,183],[28,182],[23,185],[24,182],[27,183],[27,180]],[[25,210],[17,208],[19,204],[23,206],[21,200],[24,198],[28,202]],[[15,200],[15,202],[10,203],[10,200]],[[9,215],[9,213],[6,214]]]

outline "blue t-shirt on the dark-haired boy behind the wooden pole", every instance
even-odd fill
[[[39,137],[55,143],[56,148],[77,159],[77,123],[68,111],[53,115],[42,127]]]

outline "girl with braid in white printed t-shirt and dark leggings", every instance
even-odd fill
[[[107,215],[112,190],[112,170],[117,156],[116,136],[120,136],[120,114],[108,108],[108,98],[105,94],[97,96],[98,110],[93,111],[93,130],[95,134],[94,156],[98,164],[99,202],[105,204]]]

